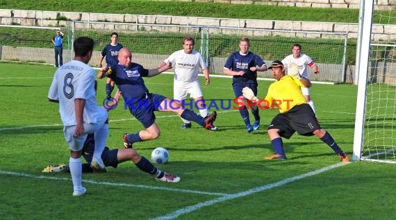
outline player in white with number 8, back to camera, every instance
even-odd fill
[[[95,71],[88,66],[94,49],[89,37],[74,41],[74,60],[59,67],[53,75],[48,99],[59,103],[63,133],[70,149],[69,169],[73,182],[73,196],[85,194],[82,186],[81,151],[88,134],[94,133],[95,148],[91,162],[92,169],[106,171],[101,160],[108,136],[108,114],[97,105],[94,89]]]

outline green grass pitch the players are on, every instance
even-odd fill
[[[181,176],[163,183],[124,162],[106,174],[83,174],[84,196],[72,196],[68,174],[47,174],[48,164],[68,163],[58,105],[47,92],[55,67],[0,63],[1,219],[394,219],[395,165],[342,164],[316,137],[283,139],[288,160],[273,153],[266,126],[277,110],[261,111],[261,128],[247,133],[239,112],[217,110],[217,132],[157,112],[161,136],[134,145],[150,158],[157,146],[170,152],[159,169]],[[172,98],[173,78],[145,78],[150,92]],[[203,81],[201,82],[204,85]],[[259,81],[263,97],[271,81]],[[105,98],[99,81],[98,104]],[[356,108],[354,85],[311,88],[317,116],[352,155]],[[233,99],[231,78],[211,78],[207,101]],[[213,110],[213,109],[212,109]],[[109,112],[107,146],[122,148],[122,134],[142,128],[123,103]]]

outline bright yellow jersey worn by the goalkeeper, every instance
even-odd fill
[[[306,103],[301,87],[305,87],[298,78],[294,76],[283,76],[279,81],[275,81],[268,88],[265,101],[269,108],[277,106],[279,112],[284,113],[295,105]]]

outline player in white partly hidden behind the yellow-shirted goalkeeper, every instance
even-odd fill
[[[286,56],[286,58],[284,58],[282,60],[282,62],[283,62],[283,65],[285,65],[287,67],[287,69],[291,69],[290,65],[292,65],[292,63],[295,63],[298,66],[299,75],[300,75],[299,77],[308,78],[308,68],[307,67],[311,67],[315,74],[319,74],[319,70],[317,69],[317,65],[315,64],[315,62],[313,62],[313,60],[306,54],[301,53],[301,45],[300,44],[293,44],[292,54],[290,54],[289,56]],[[289,71],[288,71],[288,74],[290,74]],[[313,104],[313,101],[311,100],[311,96],[309,96],[309,88],[302,87],[301,91],[305,97],[306,102],[309,105],[311,105],[313,112],[315,112],[315,105]]]

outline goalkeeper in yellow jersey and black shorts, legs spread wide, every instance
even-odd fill
[[[285,160],[286,154],[281,137],[289,139],[297,131],[299,135],[316,135],[336,152],[342,162],[349,162],[348,155],[340,149],[333,137],[327,130],[320,128],[315,113],[306,103],[301,87],[311,87],[311,82],[307,78],[298,79],[290,73],[285,75],[283,63],[279,60],[272,62],[268,69],[271,69],[276,81],[268,88],[265,99],[258,99],[247,87],[242,91],[246,99],[256,101],[260,108],[272,108],[274,105],[279,108],[280,113],[272,119],[267,128],[275,154],[265,159]]]

